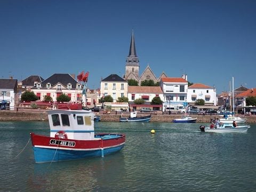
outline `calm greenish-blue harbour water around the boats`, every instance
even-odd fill
[[[126,134],[120,152],[36,164],[25,146],[29,132],[50,134],[47,122],[0,122],[0,191],[255,191],[256,124],[247,133],[199,125],[97,122],[97,133]]]

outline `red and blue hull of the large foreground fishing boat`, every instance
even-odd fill
[[[58,162],[116,153],[125,145],[124,134],[98,134],[95,140],[57,139],[30,133],[36,163]]]

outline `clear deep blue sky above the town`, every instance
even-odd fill
[[[256,87],[256,1],[0,1],[0,78],[122,76],[134,30],[140,74],[188,75],[217,93]]]

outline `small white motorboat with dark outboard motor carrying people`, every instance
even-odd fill
[[[222,124],[221,126],[217,128],[211,128],[211,127],[205,127],[204,125],[201,125],[200,130],[202,132],[213,132],[213,133],[231,133],[231,132],[239,132],[244,133],[247,132],[247,130],[250,128],[250,125],[238,125],[236,127],[233,126],[233,124]]]

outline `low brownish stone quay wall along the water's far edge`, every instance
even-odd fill
[[[101,117],[101,122],[119,122],[119,113],[102,114],[95,113]],[[138,113],[137,116],[145,116],[150,113]],[[129,117],[130,113],[122,114],[123,117]],[[197,118],[197,123],[210,123],[214,117],[221,118],[219,115],[197,115],[191,114],[191,117]],[[246,118],[246,123],[256,123],[256,115],[244,116],[238,115],[241,118]],[[150,122],[172,122],[175,118],[180,118],[180,114],[151,114]],[[43,109],[35,109],[30,111],[10,111],[0,110],[0,121],[48,121],[47,114]]]

